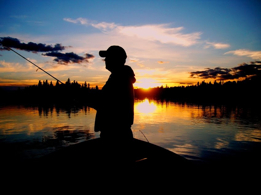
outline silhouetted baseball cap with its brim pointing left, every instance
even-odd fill
[[[107,50],[101,50],[99,52],[99,55],[102,58],[105,58],[105,57],[108,57],[108,56],[121,58],[121,59],[127,58],[127,54],[126,54],[125,50],[118,45],[112,45]]]

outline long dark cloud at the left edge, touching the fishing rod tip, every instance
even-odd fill
[[[66,49],[67,47],[62,46],[61,44],[55,44],[54,46],[52,45],[46,45],[42,43],[21,43],[19,39],[12,38],[12,37],[0,37],[0,50],[6,50],[6,47],[10,48],[16,48],[20,50],[25,50],[27,52],[52,52],[52,51],[61,51]]]

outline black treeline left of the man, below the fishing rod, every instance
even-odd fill
[[[65,84],[58,81],[53,85],[52,81],[39,80],[38,85],[26,86],[24,89],[5,90],[5,96],[1,102],[4,104],[30,104],[30,105],[92,105],[95,98],[101,90],[96,86],[91,87],[85,82],[82,85],[77,81],[70,81],[70,78]],[[4,99],[3,99],[4,98]]]

